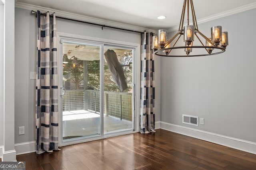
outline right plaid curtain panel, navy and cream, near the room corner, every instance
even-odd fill
[[[152,33],[142,34],[140,71],[140,133],[155,132],[155,73]]]

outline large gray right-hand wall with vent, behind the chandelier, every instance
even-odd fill
[[[253,16],[256,9],[198,25],[209,37],[210,27],[215,25],[228,31],[225,53],[212,57],[161,57],[161,121],[256,142]],[[203,117],[205,125],[182,124],[182,114]]]

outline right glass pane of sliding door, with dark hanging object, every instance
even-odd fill
[[[104,47],[104,133],[132,129],[132,50]]]

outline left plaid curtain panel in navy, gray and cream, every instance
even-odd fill
[[[58,73],[55,14],[37,11],[36,153],[58,149]]]

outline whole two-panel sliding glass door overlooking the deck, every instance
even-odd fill
[[[134,131],[133,48],[62,41],[62,140]]]

